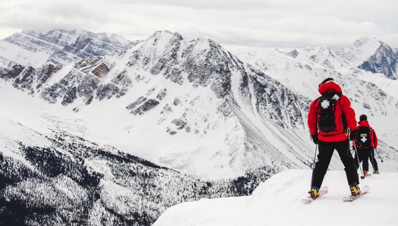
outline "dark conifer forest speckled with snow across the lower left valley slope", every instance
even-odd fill
[[[0,152],[0,225],[151,225],[168,207],[251,194],[277,169],[203,181],[57,132],[51,147]]]

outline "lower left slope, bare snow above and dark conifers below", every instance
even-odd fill
[[[172,205],[247,195],[277,173],[182,174],[67,132],[87,128],[62,105],[43,105],[4,80],[0,96],[1,225],[151,225]]]

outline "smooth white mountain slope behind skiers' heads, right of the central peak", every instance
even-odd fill
[[[300,61],[285,53],[271,49],[229,48],[243,62],[254,65],[273,79],[283,83],[292,91],[315,99],[319,96],[317,87],[326,77],[333,77],[340,84],[343,93],[350,98],[359,116],[365,114],[369,123],[380,134],[380,139],[389,146],[397,147],[395,122],[398,82],[381,74],[372,74],[359,68],[342,67],[333,70],[324,65]],[[396,148],[395,148],[396,149]]]

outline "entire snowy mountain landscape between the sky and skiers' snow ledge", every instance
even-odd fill
[[[0,215],[12,224],[151,225],[180,202],[250,194],[273,174],[311,167],[307,112],[327,77],[368,115],[384,170],[396,171],[396,51],[382,45],[362,38],[283,53],[169,31],[135,42],[78,30],[14,34],[0,41]],[[387,62],[392,76],[365,62]],[[338,157],[330,167],[341,169]]]

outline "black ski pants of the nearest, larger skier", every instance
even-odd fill
[[[350,152],[348,139],[342,142],[322,142],[319,140],[318,149],[318,161],[315,163],[315,167],[312,172],[311,186],[320,188],[322,185],[322,181],[324,181],[325,174],[328,171],[330,160],[332,159],[335,149],[344,165],[348,184],[350,186],[359,184],[358,174],[354,165],[354,158]]]

